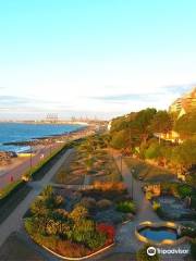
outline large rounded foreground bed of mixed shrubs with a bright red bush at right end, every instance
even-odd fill
[[[37,244],[68,258],[88,256],[113,244],[112,225],[95,222],[83,206],[68,212],[62,203],[63,198],[51,187],[33,202],[25,228]]]

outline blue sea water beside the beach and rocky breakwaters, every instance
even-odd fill
[[[28,149],[27,146],[4,146],[4,142],[26,141],[33,138],[65,134],[78,128],[82,128],[82,126],[69,124],[0,123],[0,151],[20,152]]]

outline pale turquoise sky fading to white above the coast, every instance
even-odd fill
[[[0,120],[168,109],[196,85],[195,0],[0,0]]]

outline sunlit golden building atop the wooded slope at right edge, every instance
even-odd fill
[[[177,113],[177,117],[196,109],[196,87],[188,94],[176,99],[169,108],[169,112]]]

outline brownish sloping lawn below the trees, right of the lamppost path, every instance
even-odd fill
[[[135,178],[143,177],[145,182],[164,182],[176,179],[170,171],[146,163],[145,161],[126,158],[125,162],[131,170],[135,170]]]

